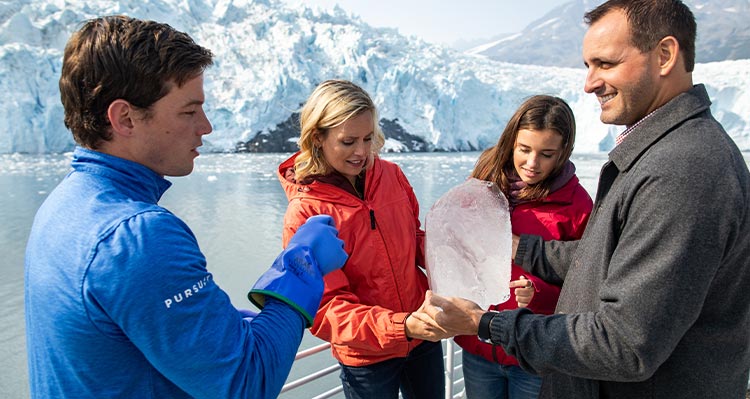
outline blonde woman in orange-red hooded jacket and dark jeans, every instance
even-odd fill
[[[385,137],[375,105],[351,82],[325,81],[300,125],[300,151],[279,166],[284,246],[307,218],[327,214],[349,254],[324,277],[310,331],[331,343],[348,399],[396,399],[399,390],[443,398],[444,332],[411,316],[427,290],[419,204],[401,169],[377,155]]]

